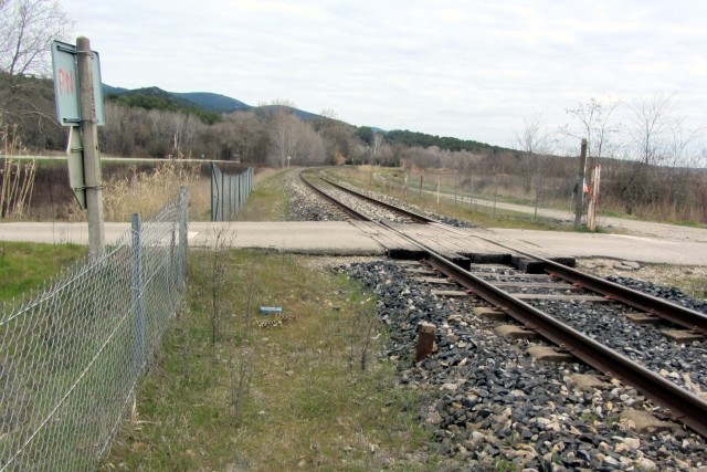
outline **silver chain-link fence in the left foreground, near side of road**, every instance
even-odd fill
[[[0,312],[0,471],[95,470],[180,300],[187,191]]]

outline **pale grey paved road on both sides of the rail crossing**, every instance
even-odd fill
[[[128,223],[106,223],[106,241],[117,240]],[[342,221],[189,223],[192,247],[208,245],[217,232],[231,234],[234,248],[263,248],[318,254],[383,254],[384,248],[354,224]],[[697,230],[707,233],[707,230]],[[489,230],[487,238],[508,244],[551,250],[558,255],[613,258],[639,262],[707,265],[707,238],[686,240],[631,234],[589,234],[559,231]],[[0,241],[87,244],[85,223],[0,223]]]

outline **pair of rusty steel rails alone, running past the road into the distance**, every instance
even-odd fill
[[[408,216],[408,210],[402,210],[390,203],[381,202],[371,197],[363,196],[354,190],[336,185],[329,180],[327,181],[330,185],[334,185],[335,187],[340,188],[349,193],[357,195],[377,204],[382,204],[390,210],[400,211],[403,212],[403,214]],[[307,183],[310,185],[309,182]],[[320,192],[320,190],[316,190]],[[339,202],[330,196],[325,195],[325,197],[338,206],[346,207],[344,203]],[[436,222],[440,224],[444,224],[416,213],[412,214],[415,214],[421,219],[420,221],[424,221],[425,223]],[[363,217],[363,219],[370,221],[366,217]],[[532,307],[521,300],[516,298],[511,294],[500,290],[497,286],[494,286],[492,283],[475,276],[468,271],[454,264],[449,259],[445,259],[444,256],[435,253],[426,245],[419,243],[418,241],[403,234],[402,232],[384,223],[379,222],[378,224],[391,231],[395,231],[400,237],[426,251],[428,258],[425,259],[425,261],[430,265],[444,273],[449,277],[453,279],[474,294],[481,296],[489,304],[499,307],[508,315],[513,316],[516,321],[521,323],[528,329],[535,331],[549,342],[559,346],[560,349],[572,354],[597,370],[615,377],[622,382],[636,388],[646,398],[653,400],[657,405],[663,406],[664,408],[667,408],[667,412],[673,418],[683,422],[685,426],[693,429],[697,433],[707,437],[707,401],[680,388],[676,384],[663,378],[656,373],[643,367],[642,365],[631,360],[626,356],[623,356],[620,353],[604,346],[603,344],[598,343],[591,337],[583,335],[571,326]],[[624,287],[613,282],[604,281],[590,274],[584,274],[566,265],[559,264],[555,261],[550,261],[546,258],[529,254],[523,251],[515,250],[513,248],[507,248],[504,244],[499,244],[497,241],[487,240],[485,238],[481,239],[544,262],[546,264],[546,272],[548,273],[555,274],[561,279],[564,279],[572,283],[577,283],[588,290],[601,293],[604,296],[612,297],[636,308],[663,316],[666,319],[671,319],[672,322],[682,326],[686,326],[685,323],[687,323],[688,327],[698,329],[700,332],[703,332],[703,329],[705,329],[705,327],[707,326],[705,325],[707,316],[698,312],[694,312],[662,298],[656,298],[654,296],[634,291],[632,289]],[[685,318],[682,317],[682,314],[687,314],[686,316],[688,321],[685,321]]]

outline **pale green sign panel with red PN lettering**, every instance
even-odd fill
[[[98,53],[92,51],[93,94],[96,106],[96,124],[105,125],[103,109],[103,86],[101,84],[101,61]],[[52,67],[54,70],[54,97],[56,98],[56,119],[62,126],[81,124],[81,102],[78,73],[76,67],[76,46],[61,41],[52,41]]]

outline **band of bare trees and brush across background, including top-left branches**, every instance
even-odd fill
[[[57,0],[0,0],[0,146],[63,150],[54,118],[49,43],[72,22]],[[102,150],[130,157],[192,157],[254,165],[379,164],[516,176],[536,202],[576,183],[579,140],[588,140],[589,175],[602,165],[602,206],[630,214],[707,222],[704,128],[686,126],[674,96],[631,103],[590,98],[567,108],[557,128],[523,118],[514,149],[409,130],[382,133],[337,119],[331,111],[303,119],[275,101],[247,112],[204,115],[147,98],[109,99]],[[557,174],[562,177],[557,177]]]

